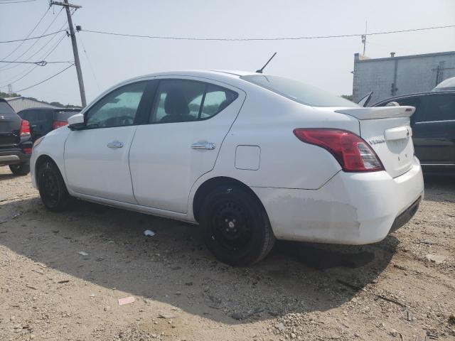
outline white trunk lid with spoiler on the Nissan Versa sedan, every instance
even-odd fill
[[[410,170],[414,159],[410,117],[414,107],[353,108],[336,112],[359,120],[360,136],[373,148],[392,178]]]

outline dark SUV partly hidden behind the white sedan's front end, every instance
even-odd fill
[[[68,124],[68,118],[80,109],[30,108],[18,112],[22,119],[30,122],[32,141],[48,134],[49,131]]]

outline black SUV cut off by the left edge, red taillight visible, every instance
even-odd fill
[[[14,175],[30,172],[32,141],[28,121],[0,98],[0,166],[9,166]]]

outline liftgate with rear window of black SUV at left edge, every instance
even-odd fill
[[[6,101],[0,101],[0,147],[18,144],[21,141],[20,129],[21,118]]]

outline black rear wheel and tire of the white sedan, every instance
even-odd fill
[[[223,263],[248,266],[264,259],[275,237],[259,200],[236,185],[221,185],[203,200],[200,225],[208,249]]]

